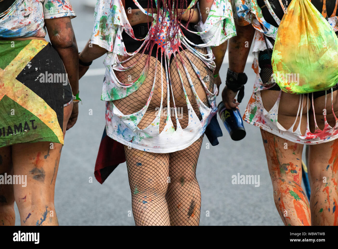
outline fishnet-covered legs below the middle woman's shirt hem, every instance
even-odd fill
[[[199,224],[201,193],[196,165],[202,139],[173,153],[124,146],[137,226]]]

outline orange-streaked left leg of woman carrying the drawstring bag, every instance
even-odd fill
[[[302,144],[261,129],[276,208],[285,225],[311,225],[308,199],[301,187]],[[285,143],[287,149],[285,149]]]

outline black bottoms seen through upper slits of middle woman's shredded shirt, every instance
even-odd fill
[[[185,21],[181,21],[181,23],[185,26],[187,25],[187,22]],[[151,26],[151,23],[149,23],[149,27]],[[134,30],[134,35],[137,39],[143,39],[144,37],[146,37],[146,35],[148,34],[148,23],[140,23],[137,25],[132,26],[133,30]],[[197,30],[194,27],[194,24],[189,23],[188,25],[188,29],[194,32],[197,32]],[[202,39],[200,38],[199,35],[193,34],[189,31],[187,31],[185,28],[181,27],[181,31],[184,34],[184,36],[186,38],[188,38],[189,41],[191,41],[194,44],[202,44],[204,43],[202,41]],[[128,53],[132,53],[135,52],[139,47],[141,47],[143,41],[137,41],[133,38],[131,38],[127,33],[122,32],[122,41],[124,43],[124,46],[126,47],[126,50]],[[182,44],[183,49],[187,49],[183,44]],[[159,62],[162,62],[163,67],[165,68],[165,59],[163,59],[161,61],[161,56],[156,57],[156,51],[158,50],[158,55],[161,55],[161,48],[158,47],[158,44],[154,44],[153,49],[150,53],[150,55],[154,58],[157,58],[159,60]],[[142,49],[141,49],[142,51]],[[150,51],[150,46],[144,51],[144,53],[146,55],[149,55],[149,51]],[[179,51],[182,51],[181,48],[179,48]],[[174,58],[174,55],[171,55],[170,57],[170,63],[172,61],[172,59]]]

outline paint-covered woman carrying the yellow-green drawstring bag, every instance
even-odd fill
[[[322,3],[312,1],[337,34],[337,1]],[[229,42],[227,78],[235,84],[226,84],[223,102],[227,108],[239,105],[234,98],[246,82],[243,71],[254,38],[252,68],[257,77],[243,120],[261,129],[276,208],[285,225],[338,225],[338,86],[311,94],[283,92],[271,80],[271,54],[287,2],[232,4],[237,36]],[[310,201],[301,187],[304,144],[309,145]]]

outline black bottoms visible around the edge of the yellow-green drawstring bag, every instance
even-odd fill
[[[259,75],[261,76],[262,82],[263,84],[267,84],[270,81],[270,77],[272,75],[272,65],[271,65],[271,55],[272,55],[272,49],[269,49],[270,51],[270,56],[267,52],[268,50],[264,50],[264,51],[259,51],[258,54],[258,63],[259,63],[259,67],[261,68],[261,72],[259,73]],[[267,89],[267,90],[275,90],[275,91],[280,91],[281,88],[279,87],[278,84],[275,84],[273,87]],[[335,84],[332,87],[333,91],[338,90],[338,84]],[[326,90],[327,94],[331,93],[331,89]],[[311,94],[313,95],[313,99],[316,99],[318,97],[324,96],[325,95],[325,90],[323,91],[316,91],[316,92],[311,92]],[[312,99],[311,94],[309,94],[309,98]]]

